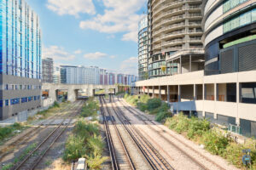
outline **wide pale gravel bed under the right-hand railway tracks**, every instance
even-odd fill
[[[133,107],[140,114],[143,114],[144,116],[148,117],[148,119],[154,122],[154,124],[152,124],[151,122],[146,121],[148,124],[146,125],[145,122],[139,120],[139,116],[132,115],[130,111],[127,111],[125,107],[121,105],[120,102],[117,102],[117,105],[119,105],[122,111],[125,112],[125,115],[131,119],[131,122],[133,124],[136,124],[137,128],[139,128],[144,135],[148,136],[148,139],[150,139],[155,144],[155,147],[158,148],[158,150],[165,150],[163,152],[163,156],[166,156],[167,158],[169,155],[169,157],[172,158],[170,159],[170,163],[173,167],[175,167],[175,169],[238,169],[230,165],[222,157],[213,156],[212,154],[207,152],[207,150],[201,149],[199,145],[195,144],[189,139],[185,139],[183,135],[173,132],[172,130],[158,122],[154,122],[153,116],[148,116]],[[131,105],[125,103],[125,106]],[[146,120],[146,118],[144,120]],[[189,158],[189,156],[193,157],[196,161],[201,162],[201,164],[205,166],[205,168],[198,166],[195,161]],[[217,162],[217,165],[219,165],[219,167],[209,160]],[[184,164],[183,162],[186,163]]]

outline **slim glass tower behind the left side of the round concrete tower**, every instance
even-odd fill
[[[148,16],[139,21],[138,25],[138,77],[148,79]]]

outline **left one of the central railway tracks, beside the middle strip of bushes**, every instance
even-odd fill
[[[112,162],[112,169],[136,169],[116,122],[113,120],[113,116],[111,116],[105,99],[100,97],[100,102],[103,122],[106,130],[108,149]],[[107,120],[107,115],[109,120]],[[109,126],[109,124],[112,126]]]

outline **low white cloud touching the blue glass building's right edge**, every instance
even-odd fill
[[[58,46],[43,47],[43,58],[53,58],[55,60],[73,60],[75,56],[65,51],[64,48]]]

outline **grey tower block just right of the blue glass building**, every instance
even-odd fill
[[[42,59],[43,83],[53,83],[54,61],[51,58]]]

